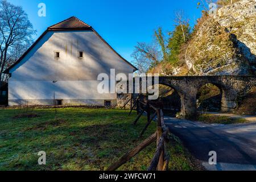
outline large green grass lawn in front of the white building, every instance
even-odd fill
[[[146,125],[137,126],[136,113],[108,109],[63,108],[0,110],[0,170],[104,170],[119,157],[155,132],[152,123],[142,140]],[[151,144],[119,170],[146,170],[155,153]],[[176,137],[168,147],[171,170],[200,169]],[[47,165],[38,165],[38,152],[46,151]]]

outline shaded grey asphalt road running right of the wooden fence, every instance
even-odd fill
[[[256,121],[238,125],[208,125],[165,117],[166,125],[208,170],[256,170]],[[209,152],[217,152],[217,165]]]

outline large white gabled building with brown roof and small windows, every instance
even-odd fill
[[[100,73],[133,73],[136,68],[76,17],[57,23],[40,36],[5,73],[9,105],[115,105],[117,94],[100,94]]]

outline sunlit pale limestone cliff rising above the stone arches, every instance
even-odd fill
[[[251,75],[256,71],[256,1],[241,0],[201,19],[185,53],[188,75]]]

